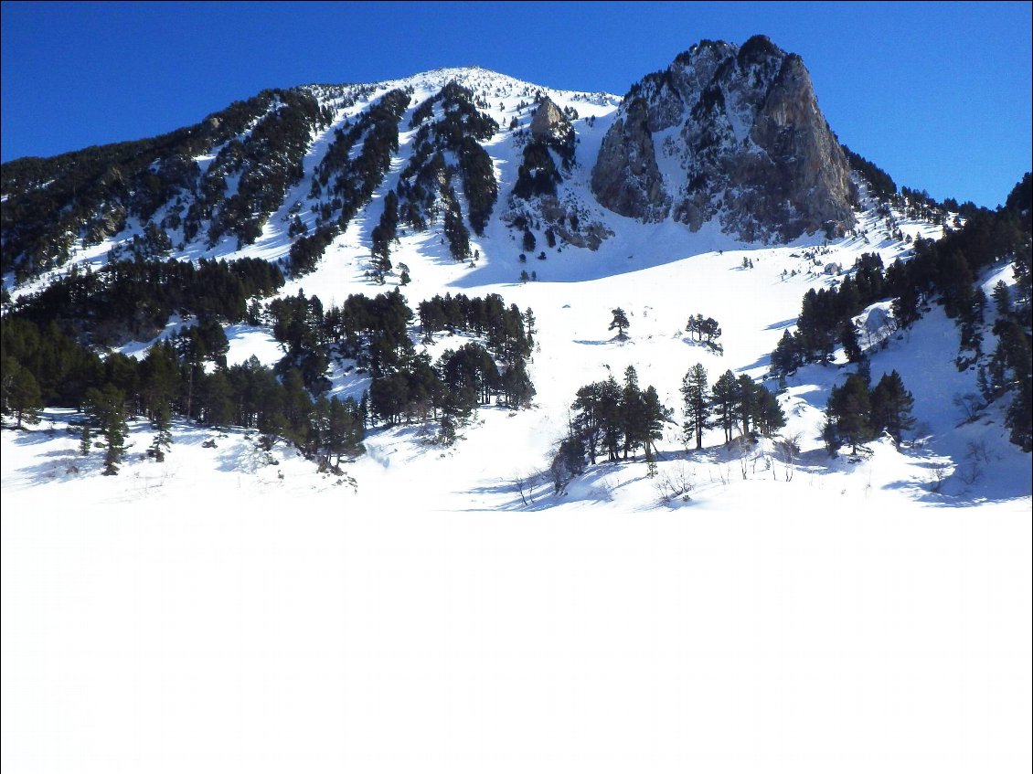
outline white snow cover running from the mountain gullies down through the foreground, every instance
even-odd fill
[[[466,72],[499,89],[500,125],[526,125],[526,85]],[[413,107],[440,88],[431,75]],[[549,93],[583,117],[561,189],[584,193],[615,103]],[[597,208],[615,234],[598,252],[525,264],[498,218],[519,150],[502,132],[491,143],[500,199],[476,265],[451,260],[440,224],[403,234],[392,260],[410,267],[411,308],[497,292],[533,310],[533,409],[483,409],[450,448],[434,428],[374,430],[345,477],[282,444],[270,464],[234,429],[179,424],[159,464],[135,422],[118,477],[79,455],[67,412],[3,431],[4,771],[1029,770],[1030,455],[997,409],[965,421],[956,398],[975,375],[954,367],[952,321],[934,308],[872,352],[873,381],[896,369],[915,396],[900,450],[824,451],[843,365],[789,378],[791,463],[769,442],[726,449],[719,430],[688,453],[678,426],[690,366],[759,379],[803,294],[837,281],[805,251],[849,268],[906,245],[872,212],[867,239],[825,251]],[[375,200],[283,292],[328,304],[392,289],[364,277],[378,216]],[[281,257],[281,220],[241,254]],[[1012,282],[1004,266],[984,279],[999,278]],[[627,342],[607,329],[617,307]],[[688,341],[697,313],[721,324],[723,356]],[[268,330],[227,335],[230,362],[282,355]],[[540,473],[576,389],[629,364],[675,409],[658,475],[600,464],[556,494]],[[335,394],[368,386],[334,376]]]

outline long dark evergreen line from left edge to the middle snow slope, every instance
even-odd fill
[[[42,307],[34,309],[42,314]],[[3,412],[21,427],[34,423],[44,406],[81,409],[84,433],[104,439],[108,473],[117,472],[125,453],[130,417],[151,422],[155,442],[148,453],[159,460],[170,443],[169,423],[180,417],[254,428],[267,448],[282,438],[335,466],[362,453],[364,433],[376,424],[439,421],[440,440],[450,443],[477,407],[494,398],[519,409],[535,394],[527,373],[533,313],[507,308],[497,295],[435,296],[421,304],[426,341],[440,330],[486,338],[448,349],[437,362],[415,351],[414,316],[397,289],[374,298],[351,295],[328,309],[299,291],[249,314],[269,324],[284,348],[272,368],[254,357],[227,365],[228,341],[214,317],[201,317],[136,360],[117,352],[101,359],[63,332],[58,320],[41,325],[30,315],[8,314],[0,337]],[[361,399],[327,394],[330,366],[342,358],[371,375]],[[84,449],[90,444],[84,442]]]

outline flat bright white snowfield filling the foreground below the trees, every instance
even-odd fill
[[[524,508],[419,473],[475,434],[357,490],[212,434],[39,486],[74,439],[3,432],[4,771],[1029,769],[1028,497],[629,509],[638,463]]]

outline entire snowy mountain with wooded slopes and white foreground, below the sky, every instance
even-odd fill
[[[1029,175],[897,192],[765,38],[2,172],[5,770],[1028,765]],[[695,366],[785,424],[697,449]],[[668,411],[594,460],[611,377]]]

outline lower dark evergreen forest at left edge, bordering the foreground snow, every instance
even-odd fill
[[[169,449],[174,416],[255,428],[267,447],[284,438],[309,457],[335,456],[340,462],[362,453],[367,416],[359,404],[325,396],[313,401],[296,368],[284,369],[278,379],[254,357],[227,367],[226,338],[218,324],[189,328],[138,361],[119,353],[101,360],[53,322],[40,329],[22,318],[5,318],[0,343],[4,413],[21,423],[44,405],[82,409],[84,434],[104,439],[107,474],[118,472],[131,417],[151,422],[155,442],[148,455],[159,461]],[[90,447],[84,443],[84,453]]]

